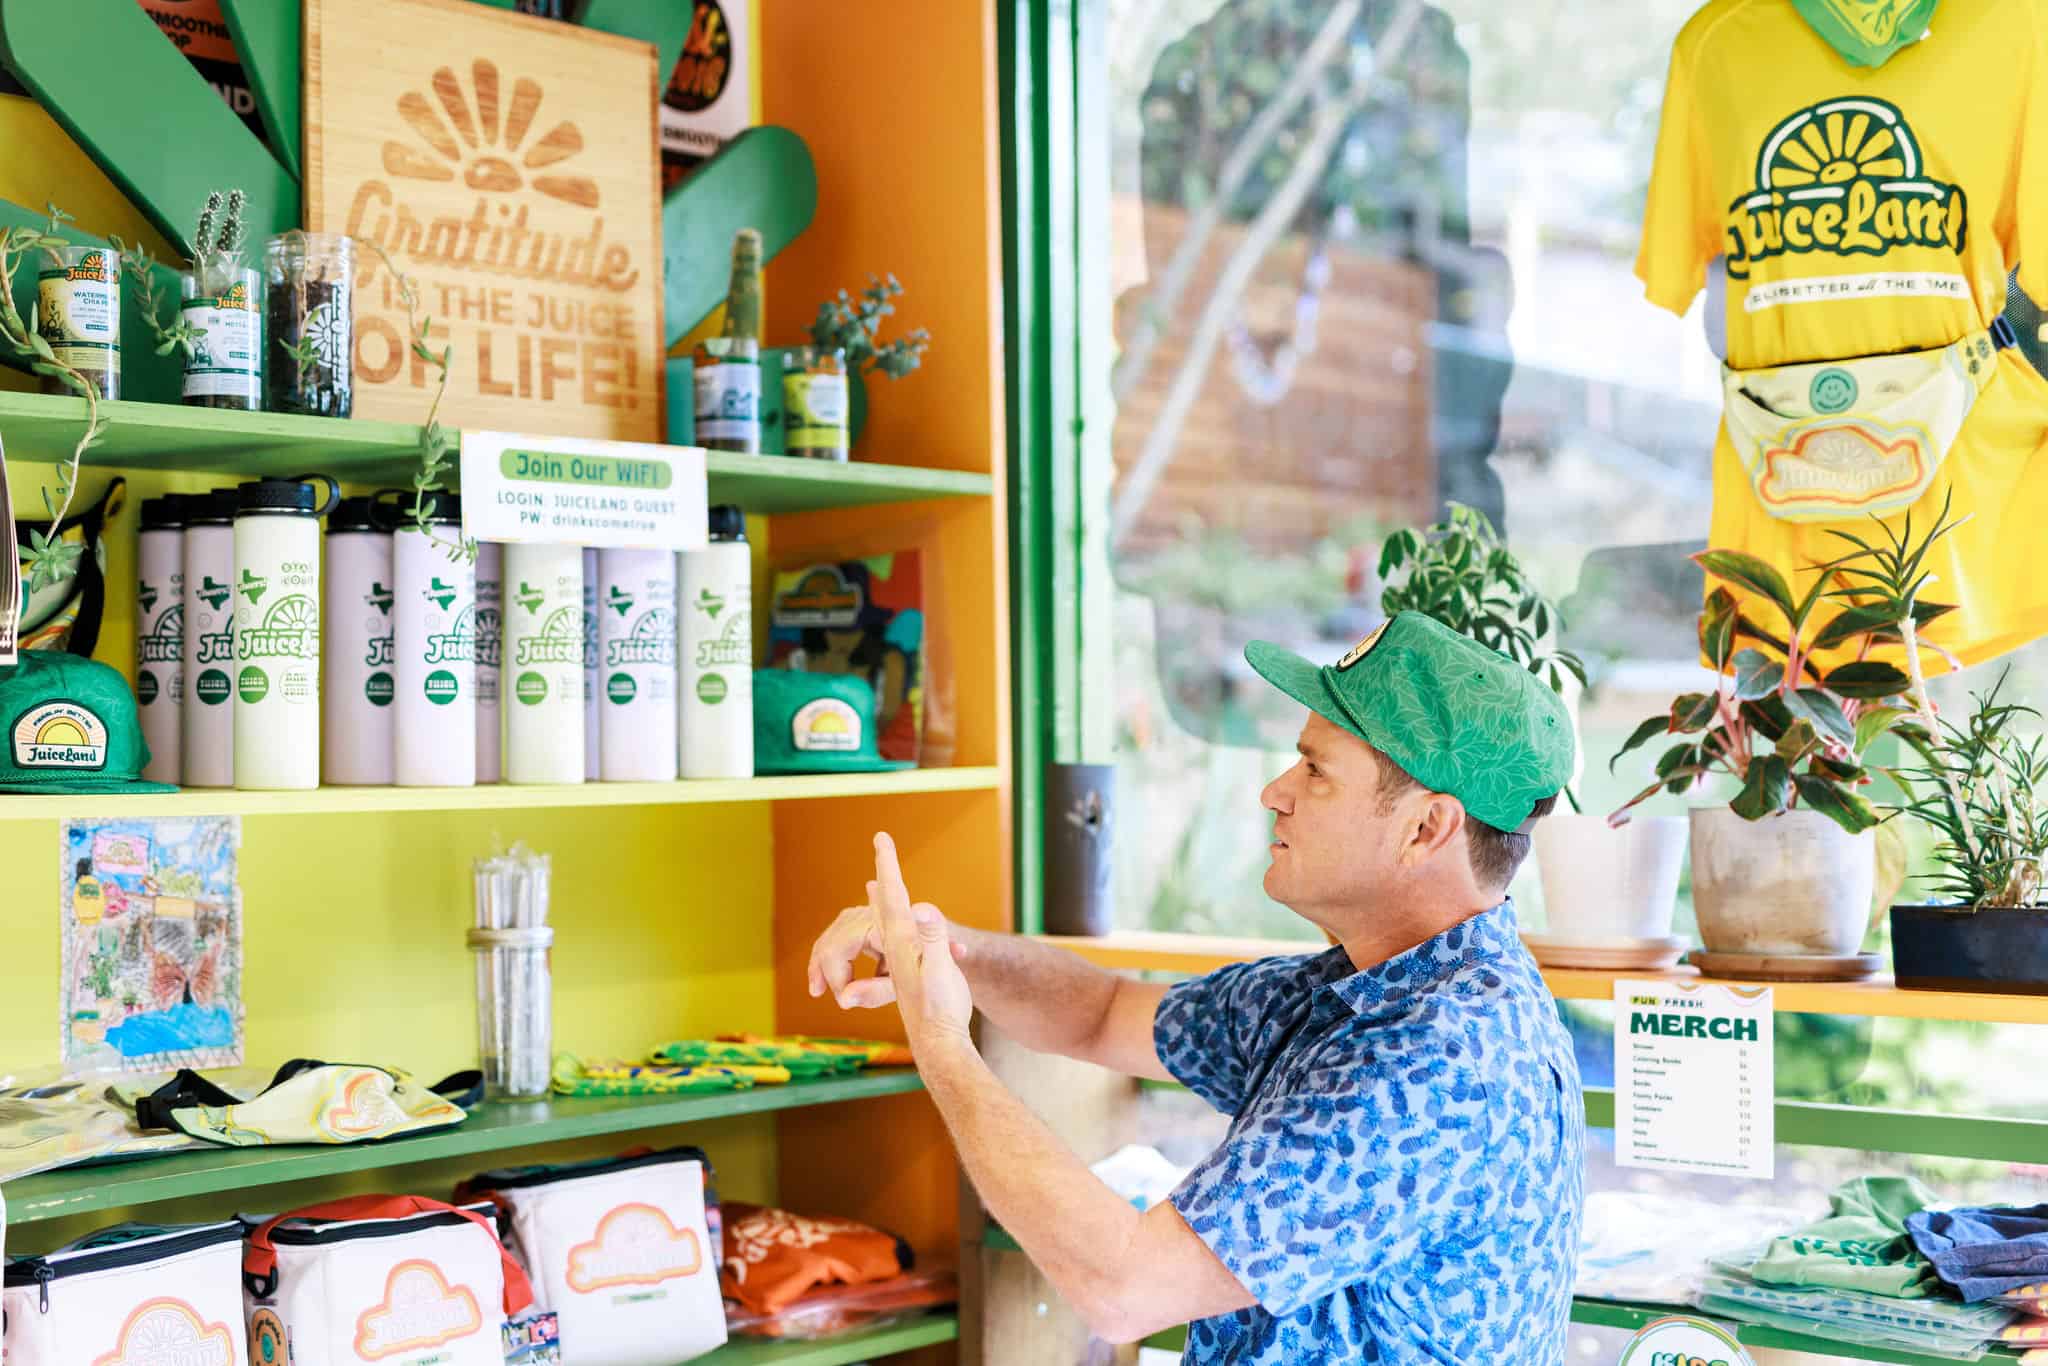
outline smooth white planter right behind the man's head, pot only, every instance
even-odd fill
[[[1620,829],[1606,817],[1552,811],[1536,821],[1536,872],[1550,920],[1546,938],[1661,940],[1677,911],[1686,821],[1638,815]]]

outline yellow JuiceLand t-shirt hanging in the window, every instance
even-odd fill
[[[1843,61],[1790,0],[1714,0],[1671,51],[1636,274],[1683,313],[1726,268],[1729,365],[1845,360],[1950,346],[2005,309],[2005,276],[2048,299],[2048,51],[2040,0],[1946,0],[1880,68]],[[1919,500],[1884,520],[1919,535],[1946,498],[1968,522],[1923,590],[1958,610],[1925,633],[1976,664],[2048,633],[2048,381],[2017,350],[1980,391]],[[1868,397],[1868,395],[1866,395]],[[1714,444],[1710,545],[1757,555],[1794,592],[1870,516],[1782,520],[1729,440]],[[1782,631],[1755,598],[1745,614]],[[1876,651],[1896,657],[1896,651]],[[1835,664],[1845,655],[1835,655]],[[1927,651],[1925,666],[1944,666]]]

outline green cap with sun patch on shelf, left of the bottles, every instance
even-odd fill
[[[121,672],[55,649],[0,668],[0,793],[176,793],[143,782],[150,745]]]

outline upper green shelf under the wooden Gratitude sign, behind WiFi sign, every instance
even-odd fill
[[[412,487],[420,428],[401,422],[305,418],[299,414],[221,412],[182,403],[100,405],[106,432],[86,451],[86,465],[178,469],[242,479],[299,475],[309,469],[350,483]],[[49,393],[0,391],[0,442],[10,461],[68,459],[86,424],[86,401]],[[711,502],[754,514],[862,508],[928,498],[987,498],[989,475],[915,465],[801,461],[782,455],[705,457]]]

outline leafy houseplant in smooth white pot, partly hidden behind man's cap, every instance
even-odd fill
[[[1395,532],[1380,547],[1378,571],[1389,616],[1425,612],[1501,651],[1548,682],[1577,723],[1585,668],[1556,647],[1556,606],[1483,512],[1450,504],[1450,516],[1436,526]],[[1657,956],[1669,963],[1681,948],[1671,940],[1671,915],[1686,821],[1649,817],[1612,827],[1581,813],[1577,799],[1569,805],[1536,821],[1536,872],[1550,924],[1546,934],[1530,936],[1530,948],[1554,967],[1653,967]],[[1612,961],[1614,952],[1634,956]]]

